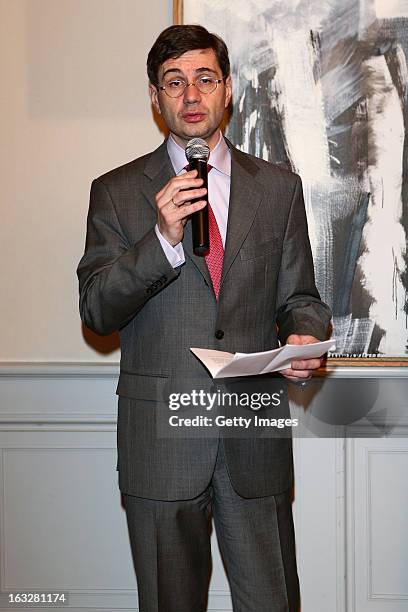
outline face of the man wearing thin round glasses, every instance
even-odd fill
[[[221,79],[221,68],[213,49],[187,51],[176,59],[166,60],[159,70],[159,85],[179,78],[192,83],[198,76]],[[162,115],[176,142],[183,148],[190,138],[204,138],[210,149],[218,142],[218,130],[231,99],[231,77],[218,84],[215,91],[202,94],[190,85],[179,98],[170,98],[154,85],[149,86],[150,98]]]

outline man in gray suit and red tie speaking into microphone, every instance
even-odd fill
[[[254,352],[278,339],[325,339],[330,312],[314,284],[301,182],[223,138],[231,77],[220,38],[172,26],[147,67],[169,138],[93,182],[78,268],[83,321],[100,334],[120,332],[119,486],[139,609],[206,609],[213,515],[235,612],[294,612],[290,439],[183,439],[157,427],[169,393],[186,381],[209,388],[190,347]],[[211,150],[216,225],[205,258],[192,250],[189,219],[206,206],[202,181],[185,168],[192,137]],[[319,365],[293,362],[282,374],[305,380]]]

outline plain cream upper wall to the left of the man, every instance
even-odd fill
[[[162,140],[145,63],[171,22],[171,0],[0,0],[0,362],[118,359],[83,338],[75,270],[92,178]]]

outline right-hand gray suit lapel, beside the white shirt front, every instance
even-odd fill
[[[258,172],[256,164],[235,149],[228,140],[227,144],[231,150],[231,191],[221,291],[223,281],[251,228],[263,195],[262,187],[254,180]]]

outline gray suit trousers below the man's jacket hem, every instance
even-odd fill
[[[208,487],[190,500],[123,495],[140,612],[205,612],[211,518],[234,612],[298,612],[290,491],[246,499],[228,475],[220,439]]]

